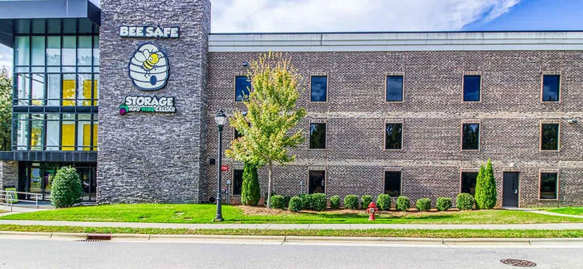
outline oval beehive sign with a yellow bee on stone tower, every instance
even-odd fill
[[[128,64],[129,78],[140,90],[160,90],[168,80],[168,59],[154,44],[141,45]]]

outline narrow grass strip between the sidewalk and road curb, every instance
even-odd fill
[[[265,229],[160,229],[107,228],[82,226],[0,225],[0,231],[142,233],[152,235],[295,235],[295,236],[375,236],[410,238],[581,238],[583,229],[570,230],[484,230],[484,229],[364,229],[364,230],[265,230]]]

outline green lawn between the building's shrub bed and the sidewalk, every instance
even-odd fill
[[[240,207],[223,206],[224,223],[246,224],[370,224],[367,214],[323,211],[319,213],[245,214]],[[381,213],[375,224],[529,224],[583,222],[580,218],[557,217],[512,210],[447,211],[425,214]],[[59,220],[111,222],[212,223],[213,204],[114,204],[80,206],[0,217],[0,220]]]

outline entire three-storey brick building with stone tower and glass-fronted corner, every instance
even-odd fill
[[[157,4],[68,2],[79,13],[0,13],[9,33],[0,39],[15,48],[15,133],[12,151],[0,153],[0,171],[9,171],[0,186],[17,182],[48,198],[54,170],[75,164],[87,199],[98,203],[208,201],[216,195],[215,113],[243,111],[247,63],[281,51],[303,77],[298,106],[308,115],[297,126],[306,140],[291,151],[296,161],[275,167],[278,194],[388,193],[435,203],[473,193],[490,158],[498,206],[583,204],[583,32],[213,34],[208,0],[167,1],[147,19],[142,10]],[[55,36],[58,71],[50,64]],[[168,67],[143,65],[143,46]],[[90,63],[79,57],[87,48]],[[235,136],[226,126],[223,148]],[[222,164],[237,203],[243,164]],[[266,169],[259,178],[265,193]]]

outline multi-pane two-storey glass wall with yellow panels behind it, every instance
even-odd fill
[[[18,20],[12,150],[97,150],[99,26]]]

